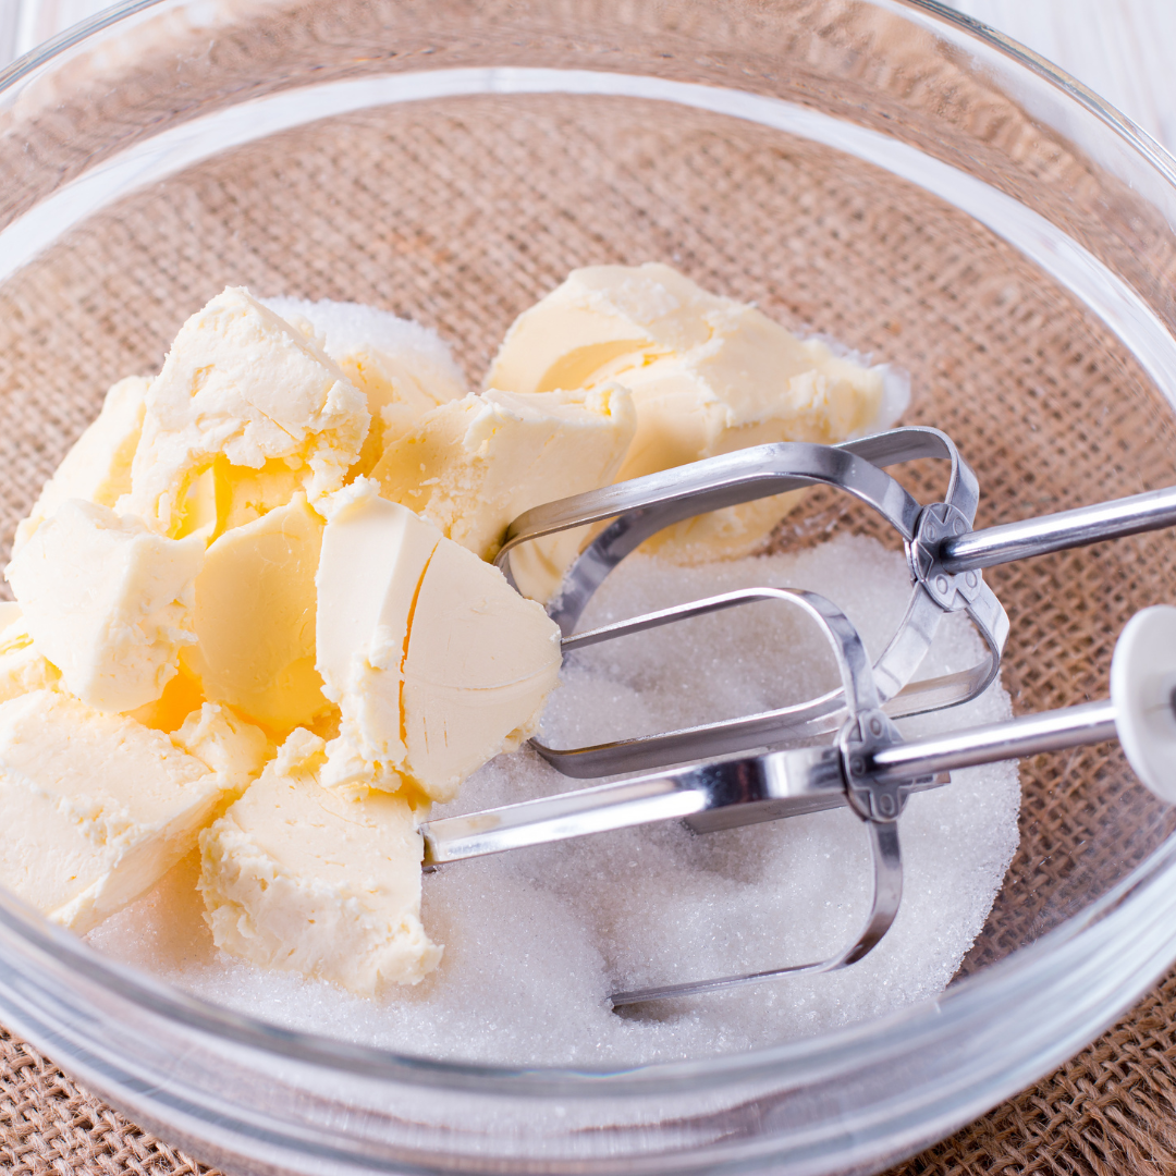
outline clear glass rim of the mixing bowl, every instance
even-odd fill
[[[128,22],[132,18],[153,9],[181,7],[188,0],[126,0],[71,26],[0,69],[0,101],[32,74],[112,26]],[[873,2],[908,16],[921,18],[929,27],[934,27],[936,22],[955,26],[967,36],[1036,74],[1095,115],[1176,191],[1176,158],[1116,107],[1045,58],[938,0],[873,0]],[[941,1036],[951,1024],[974,1021],[982,1017],[985,1009],[1005,1004],[1007,995],[1017,989],[1038,988],[1042,982],[1073,969],[1083,954],[1080,942],[1082,937],[1096,926],[1101,926],[1108,935],[1120,931],[1121,924],[1129,922],[1128,906],[1132,893],[1147,889],[1174,867],[1176,867],[1176,834],[1165,838],[1143,862],[1094,903],[1031,944],[1010,953],[978,974],[950,984],[936,996],[881,1017],[814,1037],[743,1053],[599,1069],[445,1061],[400,1054],[321,1034],[286,1029],[261,1017],[235,1013],[227,1007],[192,996],[147,974],[111,961],[80,937],[49,923],[33,908],[4,890],[0,890],[0,929],[15,935],[34,956],[71,971],[85,974],[88,982],[105,988],[118,998],[129,1001],[154,1015],[182,1023],[211,1037],[252,1047],[269,1055],[343,1071],[349,1076],[412,1082],[447,1089],[488,1090],[536,1098],[566,1098],[569,1095],[616,1097],[623,1094],[652,1094],[668,1089],[699,1087],[714,1089],[717,1085],[744,1083],[756,1078],[779,1078],[782,1073],[787,1073],[790,1080],[803,1080],[806,1074],[836,1068],[838,1058],[851,1056],[855,1065],[861,1065],[871,1060],[883,1060],[894,1053],[900,1043],[903,1049],[910,1049],[913,1043],[917,1044],[920,1037]],[[1172,886],[1176,888],[1176,881]],[[1176,946],[1176,937],[1172,943]],[[1176,956],[1176,947],[1171,954]],[[1118,1002],[1117,1009],[1110,1014],[1103,1009],[1098,1029],[1091,1031],[1087,1040],[1093,1038],[1095,1033],[1142,995],[1161,970],[1162,965],[1157,964],[1151,973],[1141,974],[1130,991],[1122,989],[1127,1000]],[[1000,998],[1001,994],[1004,994],[1005,998]],[[1053,1064],[1069,1056],[1057,1051],[1055,1054],[1056,1056],[1050,1055]],[[1041,1073],[1045,1073],[1045,1069],[1038,1068],[1037,1074]],[[1025,1078],[1020,1074],[1024,1081],[1033,1081],[1034,1076],[1029,1075]],[[1017,1077],[1018,1075],[1014,1075],[1013,1080],[1017,1081]],[[1024,1084],[1024,1081],[1021,1084]],[[1009,1083],[1004,1085],[1016,1089]],[[989,1093],[995,1091],[996,1085],[990,1084],[988,1089]],[[996,1098],[990,1098],[988,1105],[1007,1094],[1008,1090],[1003,1090]],[[980,1101],[982,1100],[983,1096]],[[973,1096],[973,1109],[980,1105],[980,1101]]]

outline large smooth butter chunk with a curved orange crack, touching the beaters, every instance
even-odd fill
[[[535,730],[556,684],[559,629],[368,479],[325,509],[318,666],[341,722],[322,782],[450,800]]]

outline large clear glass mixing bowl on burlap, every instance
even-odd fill
[[[981,523],[1176,480],[1171,162],[929,0],[135,4],[0,75],[0,176],[6,535],[227,282],[410,314],[476,377],[569,268],[648,259],[908,368]],[[814,495],[786,539],[829,524],[863,523]],[[1015,707],[1103,696],[1174,562],[1150,535],[994,572]],[[873,1171],[1176,957],[1172,815],[1118,749],[1022,784],[956,981],[813,1040],[613,1073],[396,1056],[167,990],[2,895],[0,1021],[238,1171]]]

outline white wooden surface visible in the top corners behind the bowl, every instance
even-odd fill
[[[1176,0],[946,2],[1055,61],[1176,152]],[[103,7],[103,0],[0,0],[0,65]]]

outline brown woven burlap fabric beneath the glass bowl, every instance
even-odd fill
[[[476,381],[513,316],[574,266],[669,261],[913,373],[909,421],[977,468],[980,523],[1176,480],[1176,419],[1134,359],[1015,250],[926,193],[820,146],[662,103],[485,98],[312,126],[201,165],[87,223],[0,289],[0,529],[93,416],[159,367],[226,283],[355,299],[450,339]],[[907,472],[933,493],[931,467]],[[813,495],[781,542],[869,529]],[[1135,609],[1171,597],[1170,536],[1013,564],[1004,681],[1018,710],[1103,696]],[[973,971],[1107,889],[1171,831],[1117,748],[1023,764],[1022,842]],[[1176,980],[1033,1093],[907,1171],[1176,1168]],[[16,1172],[195,1170],[0,1049],[4,1161]]]

